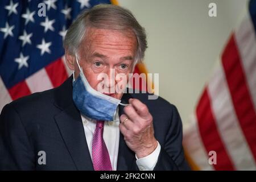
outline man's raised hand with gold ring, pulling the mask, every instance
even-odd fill
[[[147,106],[137,99],[130,98],[129,105],[123,109],[119,129],[127,146],[138,158],[150,155],[158,146],[154,137],[153,118]]]

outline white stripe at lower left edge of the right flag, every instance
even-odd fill
[[[193,114],[189,120],[190,126],[184,128],[183,146],[200,170],[214,170],[209,164],[209,156],[201,140],[196,115]]]

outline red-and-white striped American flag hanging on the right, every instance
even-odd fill
[[[184,129],[193,169],[256,170],[256,1],[251,0]],[[216,151],[217,163],[209,163]]]

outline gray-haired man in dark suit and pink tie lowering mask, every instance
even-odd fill
[[[189,169],[174,105],[148,94],[109,92],[119,82],[115,74],[132,73],[146,47],[130,11],[98,5],[81,13],[64,40],[73,77],[3,108],[0,169]],[[98,92],[99,85],[106,92]]]

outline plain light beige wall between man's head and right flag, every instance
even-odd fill
[[[118,0],[146,28],[148,72],[159,73],[159,95],[185,123],[246,0]],[[217,17],[208,5],[217,5]]]

